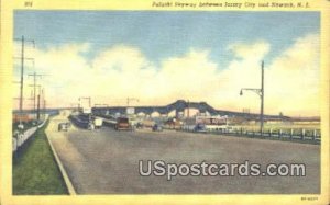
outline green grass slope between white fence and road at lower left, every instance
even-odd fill
[[[46,126],[38,129],[13,159],[15,195],[68,194],[45,135]]]

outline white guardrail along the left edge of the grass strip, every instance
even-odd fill
[[[42,128],[46,122],[47,122],[48,117],[45,118],[45,121],[35,126],[35,127],[31,127],[30,129],[26,129],[24,133],[18,134],[18,136],[12,138],[12,152],[18,151],[34,134],[37,129]]]

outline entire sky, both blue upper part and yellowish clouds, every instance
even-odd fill
[[[264,60],[265,113],[319,115],[318,12],[15,11],[14,36],[22,35],[35,41],[25,45],[35,58],[25,72],[47,75],[38,82],[48,106],[79,96],[109,105],[183,99],[258,112],[255,93],[239,93],[261,87]],[[19,56],[20,42],[14,47]]]

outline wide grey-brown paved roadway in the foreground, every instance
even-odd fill
[[[78,194],[295,194],[320,192],[320,146],[190,134],[73,127],[52,140]],[[172,163],[305,163],[306,176],[141,176],[139,160]]]

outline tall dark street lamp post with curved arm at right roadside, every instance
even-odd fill
[[[261,71],[262,71],[261,89],[243,88],[243,89],[241,89],[240,95],[243,95],[244,90],[255,92],[257,95],[260,95],[260,99],[261,99],[260,133],[261,133],[261,135],[263,135],[263,133],[264,133],[264,95],[265,95],[265,92],[264,92],[264,61],[262,61]]]

